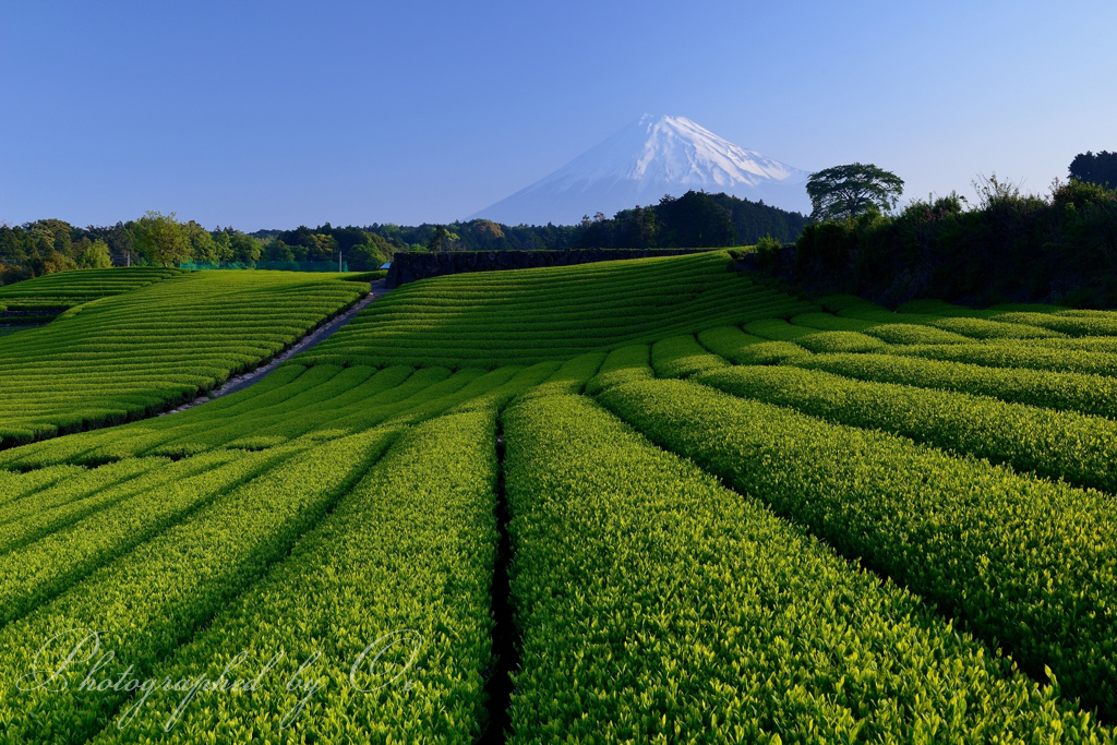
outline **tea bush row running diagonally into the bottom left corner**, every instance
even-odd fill
[[[75,630],[86,629],[98,631],[104,648],[113,650],[113,679],[123,674],[146,679],[160,660],[284,558],[394,436],[373,431],[308,450],[141,543],[0,629],[0,669],[13,675],[58,670],[70,652],[66,642]],[[0,700],[0,743],[84,743],[101,729],[131,693],[83,688],[89,667],[65,667],[65,686],[59,680],[47,685],[46,672],[20,678]],[[102,674],[107,677],[108,670],[97,674],[98,680]]]

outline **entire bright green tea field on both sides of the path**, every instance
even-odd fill
[[[1114,742],[1117,313],[731,264],[3,288],[0,743]]]

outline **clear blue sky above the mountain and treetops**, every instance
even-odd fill
[[[643,113],[906,197],[1117,150],[1117,3],[0,4],[0,221],[464,218]]]

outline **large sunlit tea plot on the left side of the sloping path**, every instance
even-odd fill
[[[295,273],[194,273],[0,338],[0,447],[181,403],[267,362],[366,292]]]

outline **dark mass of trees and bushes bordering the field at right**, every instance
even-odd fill
[[[1070,180],[1024,194],[996,175],[975,203],[951,193],[900,210],[904,182],[872,164],[811,174],[815,220],[791,254],[758,262],[819,293],[896,305],[934,297],[964,305],[1059,302],[1117,306],[1117,156],[1078,155]]]

